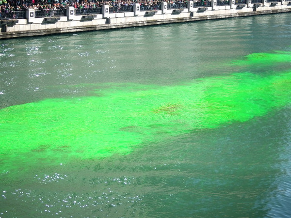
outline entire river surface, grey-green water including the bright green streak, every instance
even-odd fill
[[[0,217],[291,217],[290,14],[0,41]]]

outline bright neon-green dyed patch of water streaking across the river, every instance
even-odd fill
[[[251,54],[233,65],[291,62]],[[195,79],[175,86],[103,84],[95,96],[45,99],[0,110],[0,155],[33,161],[125,155],[142,143],[264,116],[291,102],[291,70]],[[5,169],[9,163],[4,164]]]

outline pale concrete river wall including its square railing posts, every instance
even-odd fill
[[[133,12],[109,13],[109,6],[104,5],[101,14],[75,15],[75,9],[67,7],[66,16],[40,18],[35,18],[35,11],[29,9],[26,19],[1,20],[0,39],[287,13],[291,12],[291,1],[261,0],[253,4],[246,0],[245,4],[235,4],[230,0],[229,5],[217,6],[216,0],[211,0],[209,7],[194,7],[193,1],[189,1],[183,9],[167,9],[167,3],[162,2],[161,10],[140,11],[139,8],[139,4],[135,4]]]

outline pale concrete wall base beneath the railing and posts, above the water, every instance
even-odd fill
[[[61,21],[59,22],[45,23],[45,25],[44,23],[42,23],[44,18],[36,18],[35,20],[41,19],[39,23],[25,23],[26,19],[20,19],[20,24],[12,26],[2,25],[0,39],[70,32],[76,33],[81,31],[121,29],[129,27],[142,27],[169,23],[194,22],[199,20],[224,19],[231,17],[257,16],[291,12],[291,7],[287,5],[285,5],[285,8],[259,7],[258,9],[260,10],[257,11],[253,10],[253,8],[250,7],[243,8],[239,11],[236,9],[218,11],[208,10],[205,13],[195,13],[195,9],[197,10],[197,8],[194,8],[194,11],[180,13],[178,17],[171,14],[162,15],[161,11],[154,11],[154,15],[152,16],[144,16],[144,13],[146,12],[143,12],[141,16],[120,18],[108,16],[102,19],[93,19],[92,21],[88,20],[87,22],[81,22],[81,20],[75,19],[73,21],[63,21],[64,19],[62,19],[62,17]]]

